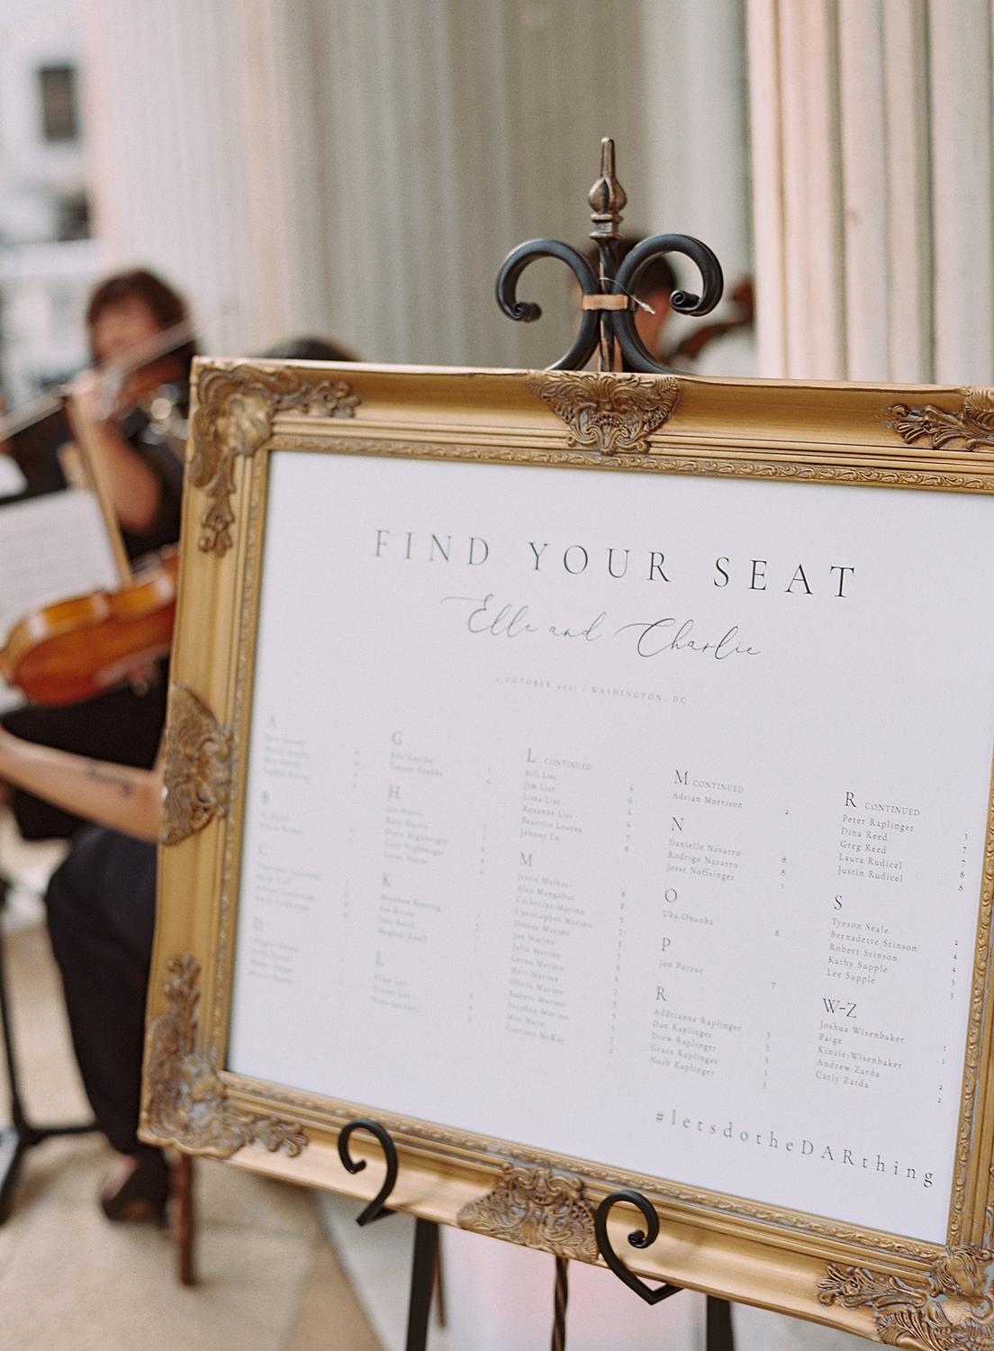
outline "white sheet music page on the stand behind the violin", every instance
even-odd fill
[[[30,611],[116,585],[113,553],[93,493],[49,493],[0,511],[0,647]],[[0,709],[15,701],[0,681]]]

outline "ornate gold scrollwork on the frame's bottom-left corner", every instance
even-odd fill
[[[258,1142],[296,1158],[308,1144],[303,1127],[236,1108],[213,1056],[201,1047],[200,962],[192,952],[170,958],[163,990],[167,1006],[146,1035],[142,1139],[215,1159]]]

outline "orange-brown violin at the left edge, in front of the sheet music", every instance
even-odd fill
[[[76,704],[140,682],[169,653],[180,555],[162,550],[116,590],[45,605],[19,620],[0,651],[0,676],[32,704]]]

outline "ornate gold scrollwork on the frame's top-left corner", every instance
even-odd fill
[[[223,558],[234,543],[236,457],[251,458],[271,436],[273,419],[297,409],[312,417],[352,417],[362,403],[346,380],[309,367],[204,365],[196,373],[186,477],[209,499],[197,547]]]

